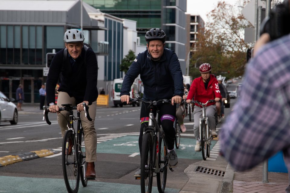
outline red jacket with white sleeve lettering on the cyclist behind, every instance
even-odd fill
[[[210,75],[208,88],[205,90],[205,83],[202,78],[195,78],[190,86],[187,100],[197,100],[201,103],[206,103],[208,100],[214,100],[216,97],[222,98],[221,91],[218,87],[218,80],[214,75]],[[214,105],[215,103],[208,103],[207,106]],[[198,106],[198,104],[195,103]]]

